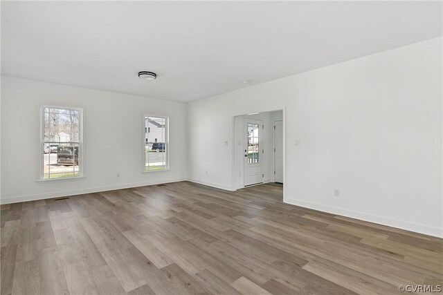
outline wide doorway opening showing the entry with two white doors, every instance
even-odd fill
[[[283,120],[281,110],[234,117],[235,189],[284,182]]]

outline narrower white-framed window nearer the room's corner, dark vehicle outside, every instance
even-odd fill
[[[168,169],[168,118],[144,116],[145,171]]]

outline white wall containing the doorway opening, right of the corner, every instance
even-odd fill
[[[443,236],[442,50],[439,37],[189,103],[188,178],[235,189],[233,115],[285,108],[286,202]]]

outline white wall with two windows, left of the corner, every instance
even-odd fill
[[[186,104],[5,76],[1,86],[2,203],[186,179]],[[83,180],[36,182],[42,104],[84,108]],[[142,173],[144,113],[170,117],[170,171]]]

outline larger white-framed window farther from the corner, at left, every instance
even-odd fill
[[[82,175],[82,109],[42,108],[42,180]]]

